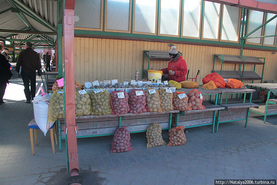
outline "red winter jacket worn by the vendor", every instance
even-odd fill
[[[180,56],[177,61],[171,60],[168,63],[167,68],[161,69],[164,74],[168,74],[168,70],[175,71],[174,75],[168,75],[169,80],[174,80],[176,82],[185,81],[185,75],[188,72],[187,64],[182,56]]]

